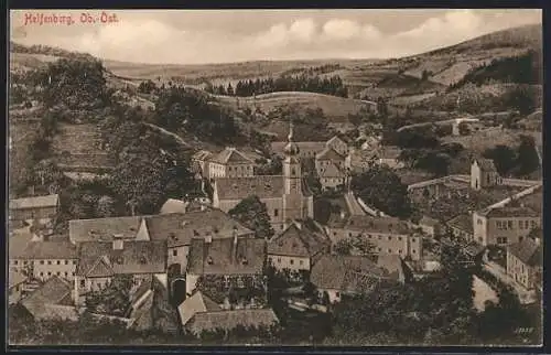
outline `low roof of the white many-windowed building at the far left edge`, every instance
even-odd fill
[[[29,241],[19,254],[10,254],[18,259],[76,259],[77,249],[68,240],[63,241]]]

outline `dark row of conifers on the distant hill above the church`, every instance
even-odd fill
[[[307,73],[294,76],[282,75],[277,78],[239,80],[235,87],[231,83],[227,87],[223,85],[213,86],[213,84],[208,83],[205,90],[216,95],[241,97],[278,92],[309,92],[348,97],[348,89],[338,75],[321,78]]]

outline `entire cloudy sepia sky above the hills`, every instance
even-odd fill
[[[82,23],[83,11],[99,21]],[[118,21],[101,23],[102,12]],[[25,24],[41,13],[71,15],[75,23]],[[388,58],[541,21],[541,10],[528,9],[12,10],[10,37],[154,64]]]

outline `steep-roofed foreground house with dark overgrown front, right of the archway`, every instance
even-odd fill
[[[266,241],[251,238],[213,239],[212,236],[193,238],[190,247],[186,294],[198,288],[218,304],[261,303],[266,301],[263,268]],[[216,290],[215,294],[208,291]],[[230,300],[231,292],[244,291],[247,300]],[[242,294],[241,294],[242,295]]]

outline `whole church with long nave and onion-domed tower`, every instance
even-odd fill
[[[272,228],[281,232],[293,220],[313,218],[314,197],[302,178],[299,147],[291,123],[284,147],[282,175],[216,178],[213,205],[229,212],[241,200],[256,195],[266,204]]]

